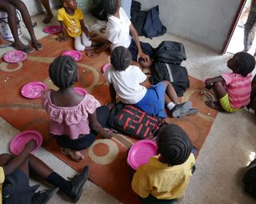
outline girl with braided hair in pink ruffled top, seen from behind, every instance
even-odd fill
[[[74,92],[78,67],[72,57],[57,57],[50,64],[49,75],[59,88],[42,92],[42,106],[50,117],[50,135],[57,140],[62,154],[78,162],[84,159],[80,151],[94,143],[96,133],[111,137],[112,131],[102,128],[106,126],[110,109],[100,107],[90,94],[80,96]]]

